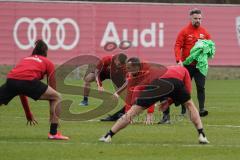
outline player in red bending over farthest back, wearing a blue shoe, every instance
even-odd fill
[[[91,82],[96,81],[98,90],[104,91],[102,81],[111,79],[116,87],[122,86],[125,82],[125,64],[127,56],[120,53],[114,56],[103,57],[92,72],[87,72],[84,77],[84,97],[79,105],[88,106],[88,95],[90,93]],[[118,77],[116,78],[116,75]],[[114,75],[114,76],[113,76]]]

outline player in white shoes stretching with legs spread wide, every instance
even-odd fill
[[[128,61],[128,72],[134,74],[138,73],[140,69],[141,65],[137,65],[135,62]],[[134,98],[134,103],[130,110],[120,119],[118,119],[113,127],[106,133],[105,136],[101,137],[99,141],[107,143],[111,142],[112,137],[121,129],[125,128],[135,116],[142,113],[146,108],[150,107],[155,102],[161,101],[165,98],[171,98],[173,103],[176,105],[184,104],[184,106],[189,110],[188,113],[190,114],[190,119],[195,125],[199,134],[199,143],[209,143],[203,131],[203,125],[200,116],[193,101],[191,100],[191,96],[188,91],[191,90],[191,80],[188,72],[185,71],[186,69],[181,66],[171,68],[169,70],[169,72],[163,72],[166,74],[168,73],[167,76],[166,74],[163,74],[158,78],[155,78],[156,74],[154,70],[149,70],[149,72],[147,72],[148,76],[144,76],[146,79],[143,80],[143,83],[138,84],[135,86],[136,88],[134,88],[136,91],[139,91],[140,89],[140,92],[138,92]],[[179,72],[179,70],[182,72]],[[179,77],[183,76],[185,77],[184,81],[179,79]]]

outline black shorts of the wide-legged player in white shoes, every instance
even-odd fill
[[[175,78],[156,79],[145,90],[140,92],[135,101],[136,105],[148,108],[158,101],[172,98],[176,106],[191,99],[184,83]]]

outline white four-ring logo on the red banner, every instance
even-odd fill
[[[27,29],[25,29],[27,32],[26,34],[27,42],[22,43],[20,41],[19,28],[21,25],[25,27],[26,25],[24,25],[24,23],[27,24]],[[42,25],[40,33],[37,33],[39,32],[39,29],[37,28],[38,23]],[[56,31],[54,31],[55,33],[53,33],[53,29],[51,29],[51,25],[56,25]],[[68,29],[67,27],[65,28],[66,25],[71,25],[73,27],[73,31],[75,32],[73,34],[74,36],[71,36],[71,37],[74,37],[74,39],[70,43],[69,42],[66,43],[66,40],[65,40],[66,30]],[[48,44],[48,48],[51,50],[57,50],[60,48],[64,50],[71,50],[78,44],[78,41],[80,38],[80,31],[77,23],[70,18],[64,18],[60,20],[57,18],[30,19],[27,17],[22,17],[17,20],[14,26],[13,38],[19,48],[23,50],[27,50],[27,49],[30,49],[31,47],[34,47],[34,43],[39,37]],[[53,37],[56,37],[56,42],[54,43],[51,40]]]

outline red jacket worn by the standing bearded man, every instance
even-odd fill
[[[211,39],[211,36],[203,27],[195,28],[191,23],[180,31],[174,47],[177,62],[183,62],[190,55],[198,39]]]

